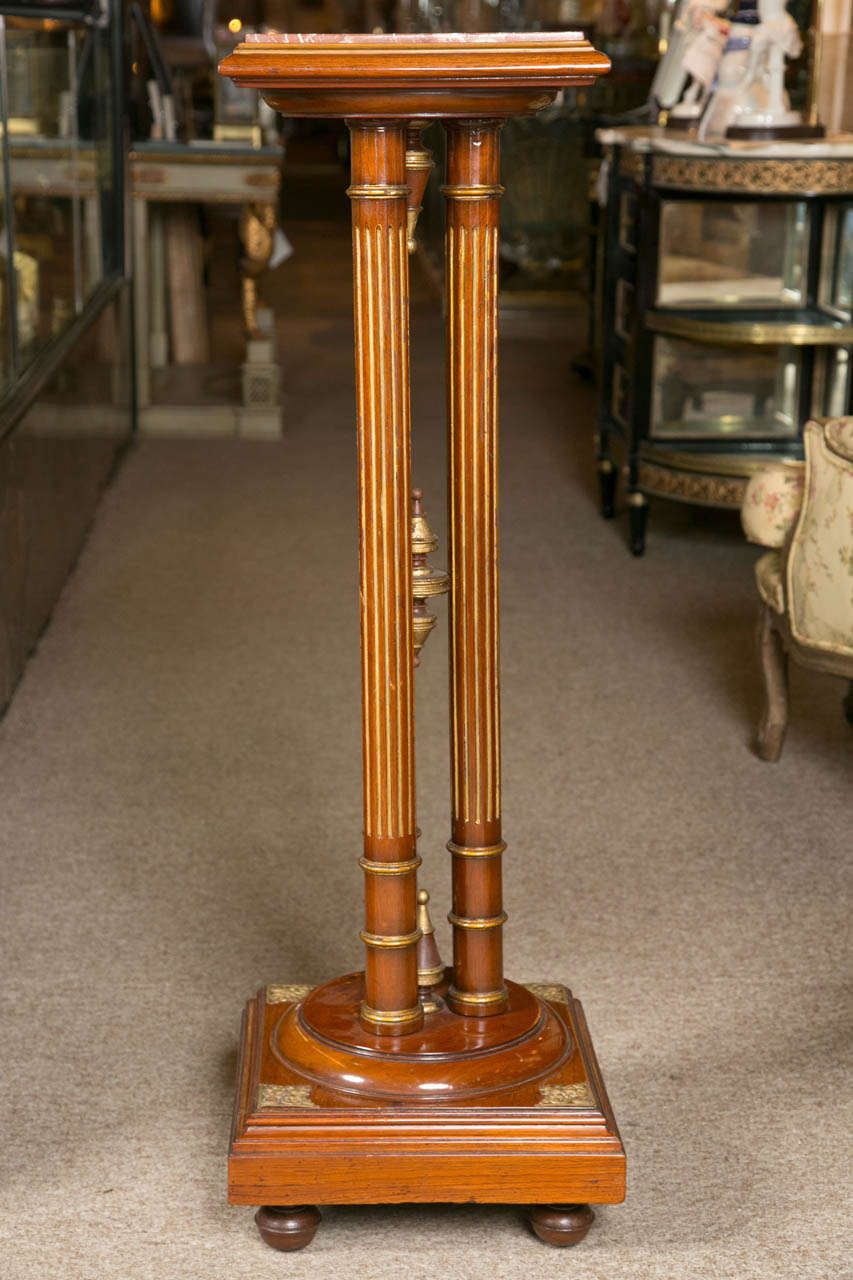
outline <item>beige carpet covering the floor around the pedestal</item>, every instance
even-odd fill
[[[225,1204],[240,1012],[360,960],[348,326],[283,320],[280,444],[145,443],[0,726],[5,1280],[838,1277],[844,1236],[840,681],[757,710],[754,549],[594,507],[561,340],[503,353],[506,951],[584,1000],[629,1194],[549,1251],[503,1207],[330,1208],[314,1245]],[[416,481],[441,527],[435,316]],[[418,678],[423,883],[448,908],[446,645]],[[446,925],[439,923],[446,945]]]

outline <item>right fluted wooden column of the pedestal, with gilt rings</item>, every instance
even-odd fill
[[[447,131],[447,415],[451,562],[453,986],[448,1004],[507,1006],[501,899],[497,532],[500,123]]]

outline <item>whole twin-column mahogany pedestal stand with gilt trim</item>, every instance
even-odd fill
[[[505,980],[501,900],[500,129],[606,69],[567,33],[270,35],[222,67],[287,115],[346,118],[352,138],[366,955],[364,972],[314,991],[266,987],[246,1011],[229,1199],[263,1206],[257,1226],[275,1248],[311,1240],[315,1203],[444,1201],[533,1206],[540,1239],[575,1244],[589,1203],[624,1197],[625,1155],[580,1005],[558,983]],[[433,118],[447,132],[453,964],[443,974],[419,969],[412,645],[432,625],[423,598],[439,588],[423,567],[420,517],[412,539],[409,410],[407,238],[432,164],[420,129]]]

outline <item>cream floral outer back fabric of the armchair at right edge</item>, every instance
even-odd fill
[[[804,443],[806,494],[785,573],[792,635],[853,657],[853,419],[809,422]]]

